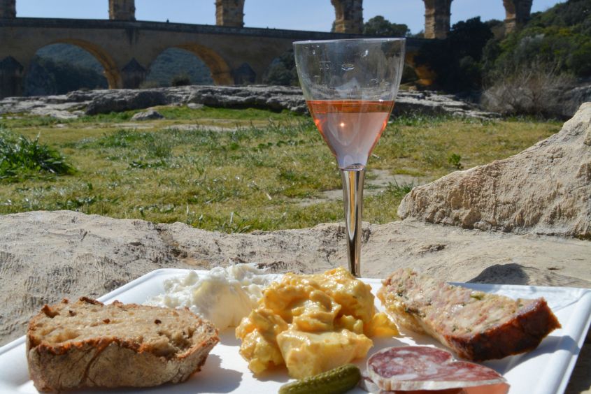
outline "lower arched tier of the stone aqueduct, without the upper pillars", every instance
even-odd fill
[[[35,53],[66,43],[90,52],[104,67],[111,88],[136,88],[152,61],[167,48],[196,54],[218,85],[262,82],[271,61],[293,41],[354,38],[359,34],[257,29],[202,24],[120,20],[0,19],[1,96],[22,94],[24,75]],[[407,52],[424,40],[408,38]]]

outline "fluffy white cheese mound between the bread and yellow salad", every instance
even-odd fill
[[[216,267],[208,272],[192,271],[184,277],[166,279],[164,293],[145,305],[187,307],[211,321],[219,330],[238,326],[262,297],[262,290],[279,275],[265,274],[254,264]]]

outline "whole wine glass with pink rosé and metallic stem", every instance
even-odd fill
[[[297,75],[341,169],[350,272],[361,276],[365,166],[385,129],[404,66],[404,38],[297,41]]]

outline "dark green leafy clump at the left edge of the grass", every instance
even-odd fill
[[[39,138],[13,136],[0,129],[0,180],[18,182],[43,175],[72,175],[76,169],[57,150],[39,143]]]

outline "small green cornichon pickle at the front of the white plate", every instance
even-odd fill
[[[339,394],[345,393],[361,379],[357,365],[346,364],[327,372],[284,384],[279,394]]]

